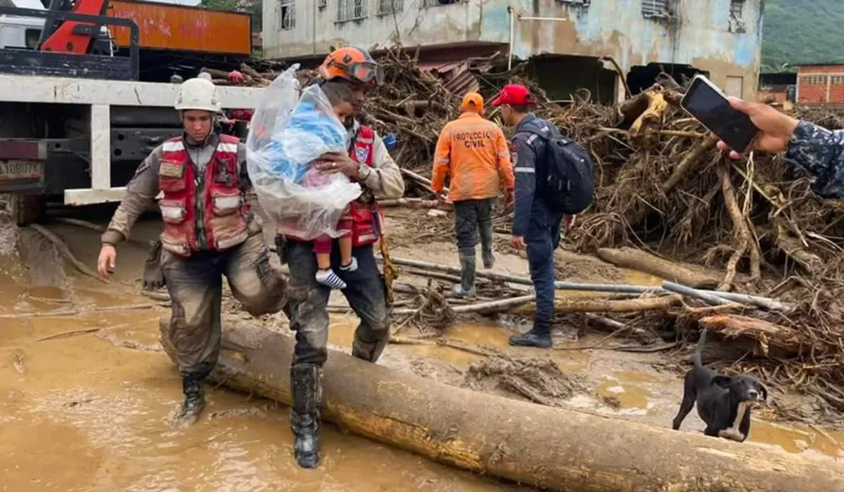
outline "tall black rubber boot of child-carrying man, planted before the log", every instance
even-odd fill
[[[319,464],[319,407],[322,402],[322,368],[315,364],[297,364],[290,368],[290,429],[295,442],[293,454],[301,468]]]

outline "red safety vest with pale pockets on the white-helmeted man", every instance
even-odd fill
[[[164,143],[159,169],[164,198],[159,207],[165,250],[189,257],[192,251],[225,251],[246,241],[252,210],[241,192],[239,142],[236,137],[219,135],[217,149],[201,177],[196,176],[196,165],[181,137]]]

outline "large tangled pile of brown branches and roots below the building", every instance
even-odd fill
[[[844,411],[844,391],[839,389],[844,384],[844,349],[839,343],[844,334],[844,210],[841,203],[816,197],[803,171],[787,165],[780,156],[726,159],[706,129],[679,108],[684,88],[664,74],[660,84],[618,107],[587,100],[557,105],[526,77],[523,64],[496,72],[492,61],[484,59],[440,73],[420,68],[414,57],[398,50],[388,51],[379,62],[387,81],[372,91],[365,109],[379,132],[396,134],[398,147],[392,154],[408,178],[408,197],[417,198],[415,205],[441,208],[425,176],[430,176],[438,134],[457,116],[462,95],[479,89],[489,99],[503,84],[527,84],[538,100],[538,115],[587,147],[595,163],[595,202],[566,237],[566,247],[596,252],[635,246],[649,252],[654,261],[694,263],[716,278],[713,284],[695,287],[792,301],[787,310],[770,311],[744,302],[701,307],[688,297],[678,302],[665,292],[651,293],[642,304],[648,306],[647,314],[630,309],[625,310],[628,314],[589,316],[587,321],[640,335],[661,331],[664,335],[664,328],[669,327],[675,337],[684,328],[709,327],[724,337],[738,338],[738,346],[758,356],[744,357],[742,370],[816,392]],[[276,73],[245,69],[244,74],[250,84],[265,85]],[[314,75],[301,73],[302,82],[307,84]],[[500,123],[494,108],[486,116]],[[831,114],[803,117],[831,129],[844,127],[844,119]],[[509,220],[503,212],[495,223],[506,230]],[[632,265],[625,266],[647,271],[636,265],[637,260],[631,261]],[[454,280],[453,274],[442,272],[430,277]],[[500,282],[490,285],[494,285],[493,299],[519,295],[502,289]],[[398,300],[399,305],[409,306],[394,312],[400,325],[435,318],[447,322],[454,312],[514,306],[505,302],[490,307],[495,300],[486,300],[488,305],[475,309],[449,298],[447,290],[436,290],[436,295],[434,288],[422,289]],[[656,303],[647,297],[654,295]],[[526,302],[529,299],[522,304]],[[592,308],[614,311],[605,302]],[[453,312],[448,316],[433,312],[443,310]]]

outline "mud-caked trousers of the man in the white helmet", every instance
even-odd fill
[[[260,231],[227,251],[198,251],[191,257],[163,251],[161,270],[172,301],[170,325],[162,334],[176,351],[183,377],[201,381],[217,363],[223,276],[253,316],[284,306],[284,280],[270,268]]]

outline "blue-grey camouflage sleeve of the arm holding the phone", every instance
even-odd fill
[[[816,177],[812,189],[819,197],[844,197],[844,130],[832,132],[800,122],[788,143],[786,159]]]

